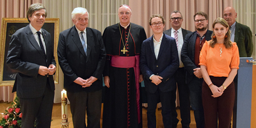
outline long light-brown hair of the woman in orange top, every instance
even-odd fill
[[[215,24],[221,24],[223,25],[225,28],[229,28],[228,23],[226,22],[225,19],[218,17],[216,20],[214,20],[213,24],[212,24],[212,29],[214,29]],[[217,39],[216,37],[214,38],[214,31],[212,33],[212,41],[210,42],[210,46],[213,48],[214,45],[217,43]],[[230,49],[232,47],[232,42],[230,41],[230,36],[231,36],[231,32],[230,29],[228,29],[228,32],[226,33],[227,38],[224,39],[224,45],[226,47],[226,49]]]

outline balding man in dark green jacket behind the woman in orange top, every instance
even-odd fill
[[[251,57],[253,52],[252,31],[251,29],[236,21],[236,10],[228,6],[223,11],[223,19],[228,22],[231,31],[230,40],[236,42],[240,57]]]

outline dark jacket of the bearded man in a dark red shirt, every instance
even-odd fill
[[[205,40],[211,40],[212,31],[207,30],[205,33]],[[188,33],[184,40],[184,44],[182,45],[182,49],[180,52],[180,58],[182,63],[186,68],[186,84],[188,84],[194,75],[194,70],[196,67],[195,65],[195,44],[196,44],[196,31],[193,33]]]

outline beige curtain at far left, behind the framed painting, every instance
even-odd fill
[[[42,3],[42,0],[0,0],[0,24],[2,18],[26,18],[28,7],[33,3]],[[0,32],[1,35],[1,32]],[[4,55],[1,55],[3,57]],[[0,86],[0,101],[13,100],[12,86]]]

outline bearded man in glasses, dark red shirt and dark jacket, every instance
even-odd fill
[[[207,29],[208,19],[204,12],[194,15],[197,31],[186,35],[181,49],[181,61],[186,68],[186,84],[189,87],[191,108],[194,110],[196,127],[204,127],[204,109],[202,105],[202,73],[200,70],[199,55],[205,40],[211,40],[212,31]]]

